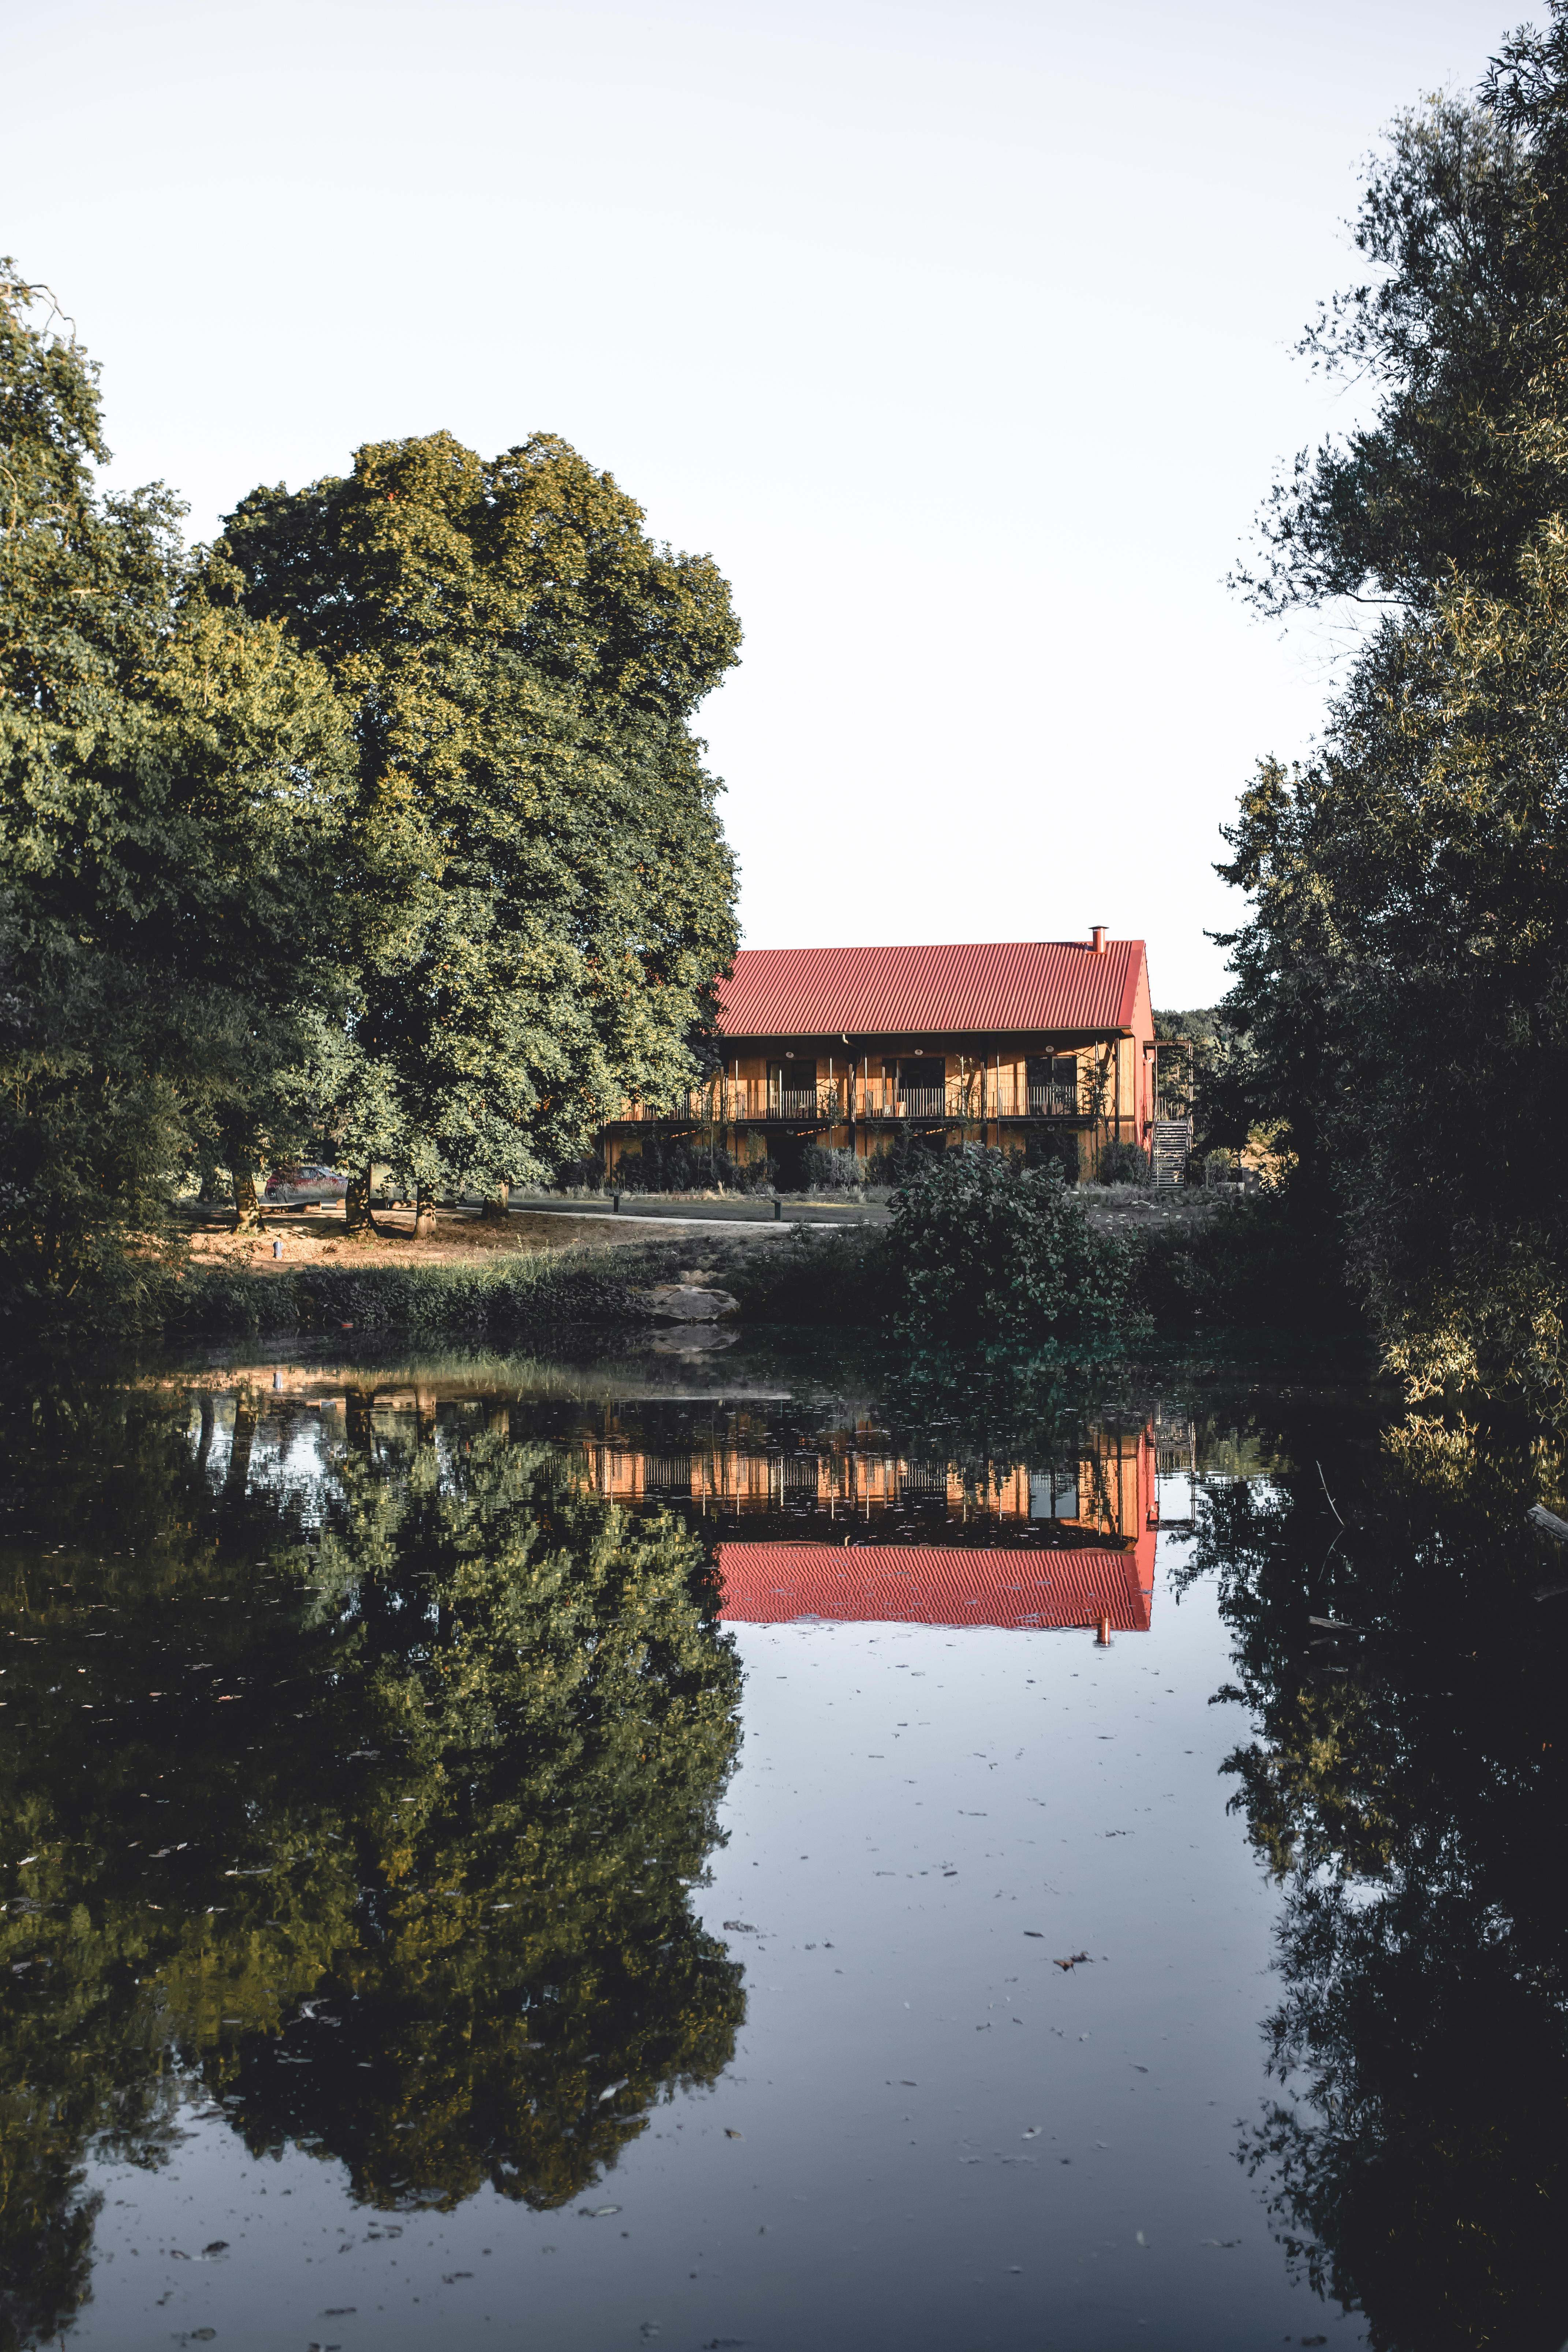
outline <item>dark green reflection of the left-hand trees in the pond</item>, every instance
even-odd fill
[[[503,1421],[355,1411],[303,1524],[244,1489],[237,1418],[216,1484],[148,1397],[54,1399],[24,1461],[0,2345],[82,2300],[82,2154],[160,2161],[197,2079],[376,2204],[552,2206],[733,2051],[741,1969],[684,1884],[736,1748],[701,1548]]]

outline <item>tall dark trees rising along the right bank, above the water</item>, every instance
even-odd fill
[[[1302,454],[1241,586],[1375,609],[1321,750],[1227,833],[1234,1051],[1211,1124],[1260,1129],[1324,1291],[1413,1392],[1568,1395],[1568,7],[1479,103],[1394,127],[1366,282],[1305,350],[1373,386]]]

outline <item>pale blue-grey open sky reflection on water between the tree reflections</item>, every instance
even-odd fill
[[[1164,1595],[1110,1651],[860,1625],[738,1639],[745,1766],[696,1893],[745,1964],[719,2086],[656,2107],[550,2213],[482,2190],[386,2216],[334,2161],[252,2164],[197,2126],[167,2173],[99,2173],[129,2201],[99,2223],[115,2260],[85,2343],[150,2352],[212,2324],[256,2352],[416,2352],[435,2331],[489,2343],[520,2310],[531,2340],[592,2347],[654,2340],[644,2324],[689,2345],[1088,2352],[1316,2333],[1232,2157],[1274,1898],[1215,1778],[1234,1726],[1206,1703],[1227,1656],[1213,1592]],[[230,2251],[207,2265],[167,2256],[214,2237]]]

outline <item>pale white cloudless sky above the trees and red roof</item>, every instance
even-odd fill
[[[1222,574],[1347,416],[1291,358],[1356,162],[1523,0],[9,0],[0,249],[115,477],[564,433],[733,581],[701,724],[750,946],[1150,941],[1338,642]]]

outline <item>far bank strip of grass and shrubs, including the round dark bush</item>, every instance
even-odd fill
[[[343,1256],[299,1268],[202,1265],[167,1277],[141,1322],[169,1341],[329,1336],[353,1329],[435,1345],[505,1345],[524,1331],[637,1331],[663,1315],[663,1284],[726,1291],[726,1319],[961,1348],[1046,1350],[1060,1359],[1359,1357],[1356,1334],[1314,1324],[1272,1200],[1206,1216],[1095,1216],[1039,1171],[969,1162],[900,1197],[889,1221],[851,1228],[639,1228],[637,1240],[494,1247],[444,1263]]]

